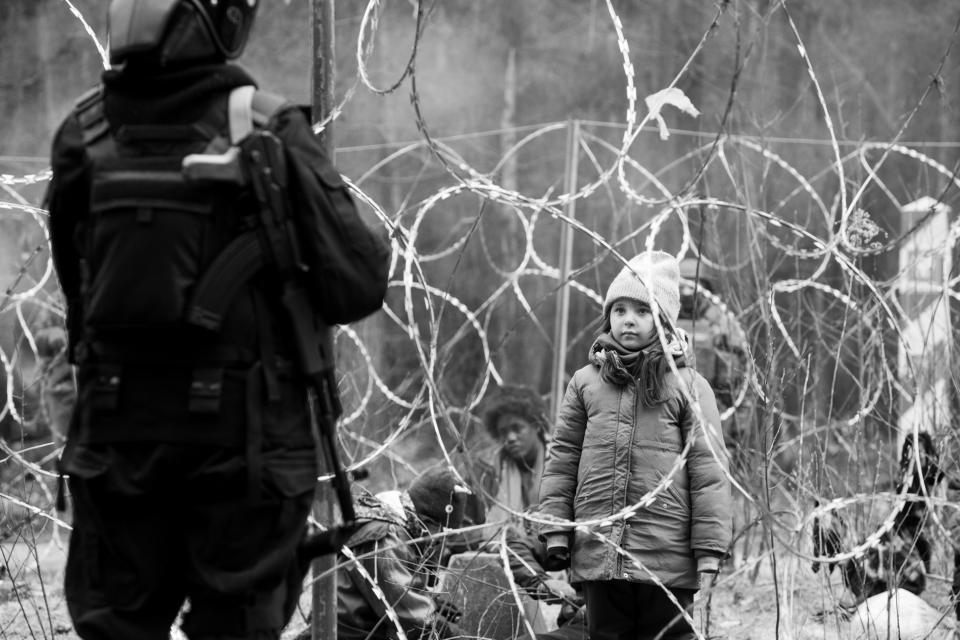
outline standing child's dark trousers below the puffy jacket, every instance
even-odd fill
[[[695,589],[671,589],[690,613]],[[664,593],[652,584],[605,580],[584,582],[590,640],[692,640],[690,624]]]

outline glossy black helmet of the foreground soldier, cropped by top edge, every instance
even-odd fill
[[[209,41],[224,58],[236,58],[243,51],[259,0],[112,0],[110,3],[110,63],[121,64],[131,55],[159,52],[174,31],[177,9],[200,22],[201,39]],[[196,16],[196,20],[193,19]],[[177,40],[184,34],[178,33]]]

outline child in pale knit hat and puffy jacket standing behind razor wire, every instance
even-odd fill
[[[651,294],[668,353],[657,334]],[[605,518],[636,504],[692,442],[686,465],[647,507],[575,536],[561,525],[541,529],[547,569],[566,566],[572,555],[571,582],[583,583],[591,640],[694,638],[653,576],[689,610],[731,542],[732,496],[720,415],[710,385],[685,366],[682,339],[673,330],[679,309],[676,258],[662,251],[633,258],[607,290],[603,332],[590,349],[589,364],[567,386],[557,419],[540,512],[562,520]],[[667,358],[674,359],[679,377]],[[706,424],[697,419],[691,397]]]

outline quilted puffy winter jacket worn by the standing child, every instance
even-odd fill
[[[598,368],[577,371],[567,386],[540,485],[540,512],[565,520],[604,518],[638,503],[681,465],[648,506],[612,523],[577,531],[571,581],[630,580],[697,588],[697,557],[723,555],[732,538],[731,492],[720,416],[710,385],[691,369],[668,373],[667,399],[643,407],[636,385],[605,382]],[[682,387],[690,385],[709,423],[703,429]],[[706,436],[711,438],[711,448]],[[544,536],[569,527],[545,525]],[[617,546],[644,567],[625,558]]]

